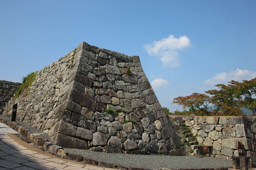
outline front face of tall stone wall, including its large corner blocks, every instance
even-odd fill
[[[61,121],[50,132],[57,145],[138,154],[168,154],[180,147],[139,56],[83,42],[71,72],[69,90],[56,107]]]

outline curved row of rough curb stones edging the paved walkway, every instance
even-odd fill
[[[149,168],[140,168],[140,167],[132,167],[132,166],[124,166],[124,165],[116,165],[116,164],[111,164],[103,161],[97,161],[88,157],[83,157],[82,155],[78,154],[73,154],[73,153],[68,153],[65,151],[61,146],[57,146],[49,142],[48,139],[45,139],[43,136],[36,136],[32,135],[32,132],[29,131],[27,128],[25,128],[22,125],[19,125],[15,122],[9,122],[5,120],[0,120],[0,122],[6,124],[10,128],[16,130],[18,133],[20,133],[23,137],[25,137],[24,140],[25,142],[32,142],[35,145],[38,146],[39,149],[41,149],[44,152],[51,153],[59,158],[63,159],[70,159],[70,160],[75,160],[77,162],[85,163],[85,164],[90,164],[90,165],[96,165],[96,166],[102,166],[102,167],[107,167],[107,168],[115,168],[115,169],[123,169],[123,170],[152,170]],[[219,167],[219,168],[179,168],[179,169],[171,169],[171,170],[228,170],[228,168],[233,168],[232,166],[229,167]],[[167,170],[167,168],[164,168]],[[157,170],[163,170],[163,169],[157,169]]]

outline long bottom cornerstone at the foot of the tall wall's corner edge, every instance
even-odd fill
[[[54,136],[51,137],[51,140],[56,145],[59,145],[63,148],[76,148],[87,150],[87,142],[75,137],[64,135],[62,133],[55,134]]]

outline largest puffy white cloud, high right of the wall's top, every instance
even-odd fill
[[[178,67],[180,65],[178,49],[187,48],[191,45],[187,36],[175,38],[169,35],[168,38],[163,38],[160,41],[153,41],[152,44],[145,45],[145,49],[149,55],[156,55],[165,66]]]

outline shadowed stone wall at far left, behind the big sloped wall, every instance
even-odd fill
[[[11,100],[20,83],[0,80],[0,115],[4,112],[4,106]]]

